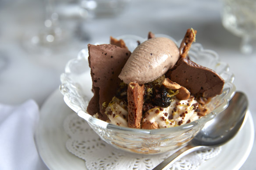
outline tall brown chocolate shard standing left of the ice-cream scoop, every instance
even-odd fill
[[[115,96],[121,83],[118,75],[131,52],[110,44],[89,44],[88,49],[94,95],[89,102],[87,112],[91,115],[98,113],[102,120],[106,120],[107,116],[104,114],[105,107],[103,105],[107,105]]]

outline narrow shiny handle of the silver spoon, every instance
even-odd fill
[[[153,170],[166,170],[170,165],[183,156],[187,155],[188,153],[192,153],[196,150],[204,149],[207,146],[193,146],[192,144],[188,144],[187,146],[179,149],[177,152],[169,156],[167,159],[165,159],[163,162],[161,162],[159,165],[153,168]]]

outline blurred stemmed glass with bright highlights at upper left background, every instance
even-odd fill
[[[23,46],[29,53],[52,55],[63,52],[72,41],[72,31],[60,27],[56,0],[44,0],[45,19],[43,28],[25,34]]]

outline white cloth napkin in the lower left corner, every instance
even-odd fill
[[[38,120],[33,100],[18,106],[0,104],[0,170],[48,170],[34,141]]]

